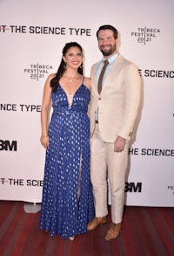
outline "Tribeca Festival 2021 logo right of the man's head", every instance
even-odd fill
[[[160,30],[157,28],[137,28],[137,31],[131,32],[131,37],[137,38],[137,43],[145,45],[150,43],[154,38],[157,38],[157,35],[160,33]]]

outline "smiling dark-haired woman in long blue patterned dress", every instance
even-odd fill
[[[90,183],[90,79],[83,75],[83,51],[64,46],[57,74],[43,90],[41,143],[46,149],[40,227],[74,239],[94,216]],[[52,101],[53,113],[48,127]]]

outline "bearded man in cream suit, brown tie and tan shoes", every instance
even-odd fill
[[[140,100],[140,76],[137,66],[117,52],[116,28],[101,26],[97,41],[104,59],[91,67],[90,178],[96,217],[88,224],[88,231],[106,223],[109,179],[112,224],[105,239],[111,240],[116,239],[122,229],[125,173]],[[108,60],[108,64],[104,65],[104,60]],[[106,66],[105,72],[101,72],[103,66]],[[104,73],[103,84],[97,88],[98,82],[101,86],[100,73]]]

